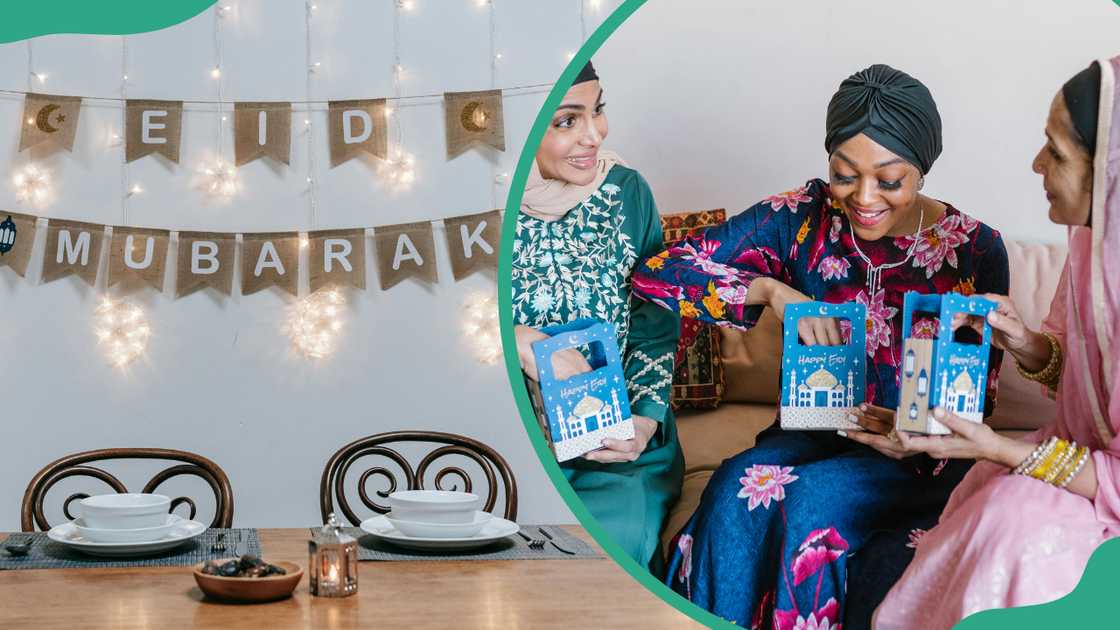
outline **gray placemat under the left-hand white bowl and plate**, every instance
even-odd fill
[[[212,549],[218,534],[225,534],[225,550]],[[17,537],[25,536],[17,534]],[[208,559],[244,554],[261,555],[261,541],[255,529],[207,529],[197,538],[172,549],[134,558],[101,558],[55,543],[45,531],[30,534],[31,549],[26,556],[12,556],[0,543],[0,571],[13,568],[119,568],[132,566],[190,566]]]

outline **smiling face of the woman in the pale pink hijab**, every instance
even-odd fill
[[[579,186],[595,180],[599,146],[607,137],[605,106],[598,81],[577,83],[568,90],[536,149],[541,176]]]

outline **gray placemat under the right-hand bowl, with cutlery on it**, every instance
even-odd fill
[[[530,538],[547,541],[548,538],[542,536],[539,529],[548,531],[557,545],[571,552],[572,555],[559,552],[551,543],[545,543],[544,548],[540,550],[531,549],[529,548],[529,543],[516,534],[486,547],[464,552],[450,552],[446,549],[422,552],[420,549],[405,549],[404,547],[398,547],[391,543],[379,540],[357,527],[343,528],[344,531],[358,539],[357,559],[360,560],[554,560],[606,557],[559,526],[521,526],[521,531]]]

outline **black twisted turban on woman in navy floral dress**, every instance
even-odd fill
[[[930,172],[941,155],[941,115],[921,81],[888,65],[876,64],[840,84],[829,102],[824,148],[837,147],[859,133]]]

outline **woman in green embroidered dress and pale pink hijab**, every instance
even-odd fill
[[[525,186],[513,244],[521,367],[536,376],[539,328],[592,317],[618,332],[632,439],[561,467],[588,510],[643,566],[661,569],[661,522],[680,492],[683,458],[669,407],[678,316],[631,296],[631,270],[663,249],[653,194],[637,172],[599,150],[603,90],[588,63],[552,117]],[[557,378],[590,370],[577,350],[554,355]]]

